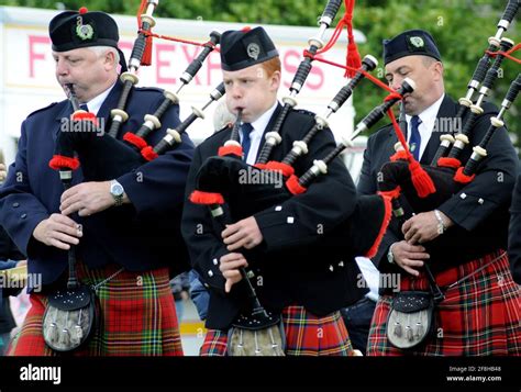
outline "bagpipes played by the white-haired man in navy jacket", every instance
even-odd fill
[[[210,41],[203,44],[201,53],[188,65],[182,72],[181,86],[176,92],[164,91],[164,100],[154,113],[146,114],[141,127],[135,132],[126,132],[122,139],[118,138],[121,125],[129,119],[125,112],[132,89],[138,82],[137,69],[144,65],[143,58],[148,57],[146,53],[152,49],[152,36],[149,30],[155,25],[153,12],[157,7],[157,0],[142,1],[141,10],[146,7],[146,12],[140,16],[140,33],[129,60],[129,69],[120,75],[122,92],[115,109],[111,110],[110,128],[108,132],[100,128],[93,113],[80,109],[79,102],[74,94],[74,86],[68,85],[68,97],[74,113],[70,121],[74,130],[79,132],[67,132],[62,130],[58,135],[54,157],[49,163],[53,169],[68,167],[73,170],[80,165],[84,177],[88,181],[104,181],[118,178],[133,169],[154,160],[159,155],[176,147],[181,143],[181,135],[197,119],[203,119],[203,111],[224,94],[224,85],[220,83],[210,92],[210,100],[202,109],[192,108],[192,113],[175,128],[167,128],[166,135],[154,146],[149,146],[146,137],[162,127],[160,119],[166,111],[179,102],[178,93],[188,85],[202,67],[209,54],[219,44],[221,34],[210,33]],[[149,65],[149,64],[148,64]]]

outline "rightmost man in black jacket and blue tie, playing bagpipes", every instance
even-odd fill
[[[428,32],[411,30],[385,41],[384,57],[386,79],[391,87],[399,87],[406,77],[417,85],[414,92],[404,98],[407,137],[411,152],[421,164],[429,165],[440,145],[440,135],[458,131],[461,126],[461,119],[456,117],[458,104],[444,92],[440,52]],[[490,104],[483,109],[470,144],[461,156],[463,163],[468,159],[470,147],[481,141],[490,124],[489,119],[495,114]],[[380,168],[395,153],[396,142],[390,125],[370,136],[358,184],[362,193],[377,191]],[[503,250],[518,158],[503,127],[496,131],[487,150],[488,156],[470,183],[437,210],[410,217],[401,231],[393,222],[379,253],[373,258],[380,272],[397,273],[402,291],[429,290],[422,269],[423,264],[429,262],[437,284],[445,290],[445,300],[437,306],[436,334],[426,345],[413,350],[414,354],[481,356],[521,352],[520,289],[512,281]],[[411,216],[411,211],[408,213]],[[472,257],[454,256],[448,251],[431,257],[426,251],[430,243],[442,238],[440,236],[464,232],[470,233],[476,242]],[[462,279],[459,284],[446,288]],[[396,294],[390,289],[396,288],[380,288],[384,295],[380,295],[373,318],[368,355],[404,354],[392,347],[386,335],[386,328],[392,327],[387,325],[387,317]]]

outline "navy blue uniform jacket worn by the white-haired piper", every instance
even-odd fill
[[[98,112],[99,119],[106,119],[106,128],[110,126],[110,110],[118,107],[121,91],[122,83],[117,82]],[[129,120],[123,123],[119,137],[129,131],[136,132],[144,115],[154,113],[163,100],[159,89],[134,88],[126,105]],[[40,222],[59,213],[64,188],[58,172],[49,168],[48,161],[63,119],[69,119],[71,112],[71,104],[66,100],[27,116],[22,124],[16,159],[0,188],[0,224],[27,255],[29,272],[42,273],[43,284],[57,281],[67,268],[67,251],[46,246],[32,234]],[[178,105],[166,111],[162,124],[162,128],[147,138],[151,145],[165,135],[167,127],[179,124]],[[193,144],[184,135],[176,149],[119,177],[132,205],[77,217],[84,226],[78,258],[91,268],[115,262],[132,271],[165,266],[176,270],[182,254],[180,247],[184,247],[178,228],[192,154]],[[102,156],[92,157],[103,159]],[[73,186],[82,181],[80,167],[73,173]],[[186,264],[188,266],[187,260]]]

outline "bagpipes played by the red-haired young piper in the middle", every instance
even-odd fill
[[[333,8],[334,7],[334,8]],[[320,32],[323,34],[329,26],[330,21],[334,19],[334,13],[340,8],[340,1],[330,1],[321,18]],[[332,13],[334,11],[334,13]],[[317,53],[322,46],[321,36],[309,40],[310,48],[306,54]],[[352,139],[361,132],[368,130],[376,124],[388,111],[392,104],[399,101],[403,94],[411,92],[414,83],[407,79],[403,81],[398,92],[389,96],[386,101],[375,108],[362,122],[357,125],[353,136],[344,137],[342,143],[331,152],[322,160],[315,160],[314,165],[309,168],[300,178],[296,176],[295,163],[297,159],[308,153],[308,145],[312,143],[313,137],[321,131],[328,128],[326,119],[335,113],[342,104],[351,97],[353,89],[358,85],[367,71],[377,66],[377,60],[373,56],[366,56],[358,68],[353,70],[354,77],[341,88],[334,99],[328,105],[328,110],[323,116],[314,117],[315,124],[308,131],[301,141],[295,141],[293,147],[279,161],[269,160],[273,149],[277,146],[282,137],[280,131],[288,115],[297,105],[295,97],[303,86],[310,69],[313,55],[304,55],[293,81],[290,85],[290,96],[282,99],[284,108],[274,121],[270,132],[265,134],[265,144],[258,155],[254,166],[247,165],[242,160],[243,150],[240,143],[241,128],[241,111],[237,112],[237,119],[231,130],[230,139],[219,148],[219,156],[209,157],[200,167],[197,179],[196,190],[190,194],[190,201],[199,205],[206,205],[211,216],[217,223],[218,229],[222,231],[228,224],[236,222],[241,219],[252,216],[256,212],[277,205],[306,192],[307,188],[313,187],[313,182],[322,175],[328,172],[330,165],[346,147],[352,145]],[[280,173],[285,178],[285,186],[277,188],[274,183],[250,183],[242,181],[243,172],[250,172],[252,177],[263,178],[273,173]],[[269,181],[267,181],[269,182]],[[247,202],[245,202],[247,201]],[[363,254],[376,253],[379,240],[381,239],[387,224],[390,220],[390,201],[386,197],[372,195],[361,197],[354,209],[354,213],[345,221],[340,222],[336,228],[324,235],[324,242],[321,245],[331,245],[342,248],[343,255],[354,259],[355,256]],[[240,251],[248,255],[247,249]],[[247,256],[246,256],[247,258]],[[268,355],[280,355],[279,341],[274,336],[280,336],[280,332],[276,326],[280,323],[280,317],[265,310],[255,293],[255,290],[248,278],[253,273],[246,272],[241,268],[244,284],[247,288],[250,296],[250,309],[243,309],[241,315],[235,320],[233,332],[231,334],[231,346],[229,352],[231,355],[260,355],[257,351],[247,351],[244,344],[237,344],[245,340],[245,331],[254,331],[251,338],[257,339],[258,336],[266,336],[264,340],[271,341],[274,350],[267,350]],[[263,332],[264,334],[260,334]],[[256,335],[258,334],[258,335]],[[231,350],[231,351],[230,351]]]

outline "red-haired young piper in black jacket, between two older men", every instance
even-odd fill
[[[221,38],[221,61],[228,108],[234,114],[242,109],[244,159],[253,165],[264,135],[281,111],[277,102],[278,53],[262,27],[229,31]],[[280,161],[313,124],[311,113],[291,111],[270,159]],[[228,139],[229,127],[198,146],[187,197],[196,188],[201,165],[218,155]],[[300,176],[313,159],[323,158],[334,147],[332,133],[321,131],[310,143],[309,153],[296,163],[296,173]],[[182,234],[192,266],[211,295],[206,322],[209,333],[201,355],[226,354],[226,332],[247,300],[240,267],[255,273],[251,281],[262,304],[282,313],[287,355],[350,355],[351,344],[339,309],[363,296],[364,290],[357,289],[355,280],[359,270],[352,260],[329,256],[329,249],[320,248],[318,242],[321,227],[328,232],[350,216],[355,201],[353,181],[337,159],[307,192],[240,220],[222,233],[212,227],[207,208],[186,202]]]

